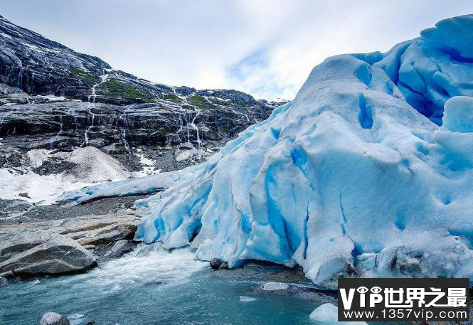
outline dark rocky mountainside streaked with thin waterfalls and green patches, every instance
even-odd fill
[[[55,153],[94,146],[141,176],[205,160],[279,103],[142,80],[0,18],[0,105],[0,169],[60,174],[77,162]]]

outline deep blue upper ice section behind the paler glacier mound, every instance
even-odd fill
[[[373,66],[386,70],[405,100],[441,125],[447,100],[473,96],[472,16],[440,21],[379,58]]]

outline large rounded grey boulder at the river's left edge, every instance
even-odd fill
[[[0,274],[5,277],[65,275],[97,266],[74,240],[43,230],[0,230]]]

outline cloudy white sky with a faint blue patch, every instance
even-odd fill
[[[331,55],[386,52],[472,0],[1,0],[0,14],[166,85],[291,100]]]

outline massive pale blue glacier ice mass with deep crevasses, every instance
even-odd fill
[[[135,239],[301,265],[309,279],[473,279],[473,16],[339,55],[193,176],[137,201]],[[441,126],[440,126],[441,125]]]

